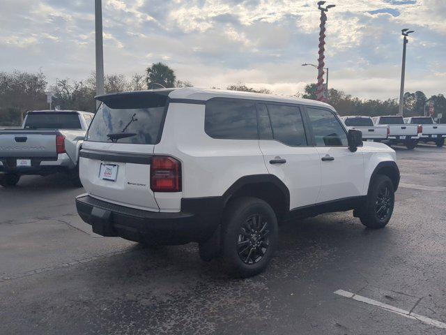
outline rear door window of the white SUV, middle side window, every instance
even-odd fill
[[[267,105],[272,137],[292,147],[307,145],[300,109],[285,105]]]

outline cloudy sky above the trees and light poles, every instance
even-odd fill
[[[144,73],[162,61],[178,80],[275,94],[316,81],[319,11],[307,0],[102,0],[105,73]],[[328,86],[397,98],[401,29],[409,37],[406,91],[446,94],[445,0],[331,0]],[[95,68],[93,0],[1,0],[0,70],[82,80]]]

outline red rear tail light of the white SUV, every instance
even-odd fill
[[[181,163],[173,157],[153,156],[151,190],[153,192],[180,192]]]

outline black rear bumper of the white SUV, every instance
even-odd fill
[[[86,194],[76,198],[76,207],[96,234],[159,244],[205,241],[220,225],[223,211],[220,197],[183,198],[178,213],[133,209]]]

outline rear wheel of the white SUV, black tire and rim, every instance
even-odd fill
[[[236,278],[261,273],[275,251],[277,235],[277,218],[269,204],[257,198],[233,200],[222,222],[224,267]]]

